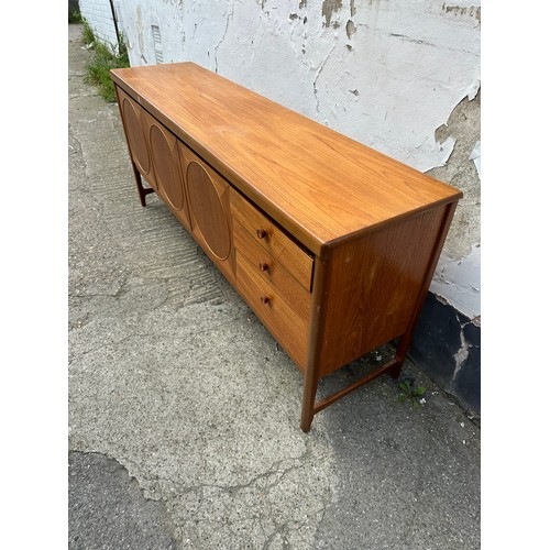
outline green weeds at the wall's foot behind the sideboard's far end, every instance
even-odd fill
[[[125,41],[120,41],[119,52],[117,53],[117,48],[112,44],[107,45],[97,40],[86,21],[82,24],[82,40],[86,47],[94,52],[92,57],[85,66],[85,81],[96,86],[106,101],[111,103],[117,101],[110,70],[130,66]]]

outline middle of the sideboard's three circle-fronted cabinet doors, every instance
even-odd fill
[[[157,193],[177,219],[190,229],[184,178],[179,166],[176,136],[146,111],[143,111],[146,141]]]

